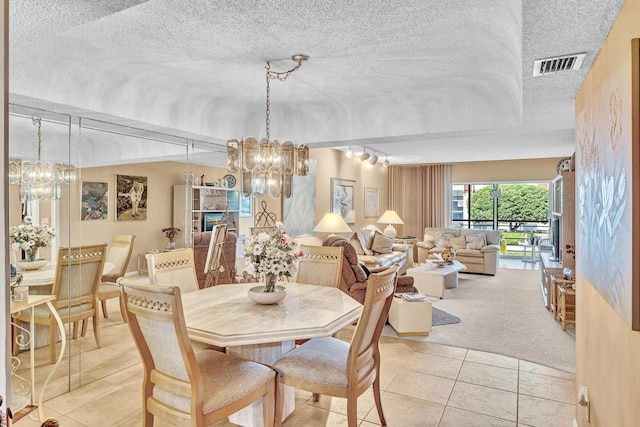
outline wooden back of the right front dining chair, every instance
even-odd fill
[[[369,387],[380,366],[378,342],[387,321],[398,279],[398,264],[372,273],[367,280],[367,293],[362,315],[356,326],[347,359],[349,387],[359,390]]]

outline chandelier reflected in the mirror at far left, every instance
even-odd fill
[[[42,119],[34,118],[38,127],[38,160],[35,162],[12,159],[9,161],[9,184],[20,185],[20,200],[60,200],[62,184],[76,181],[76,168],[72,164],[41,160]]]

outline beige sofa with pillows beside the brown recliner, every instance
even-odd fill
[[[380,230],[371,226],[353,233],[350,243],[358,254],[358,260],[367,268],[390,267],[398,264],[398,275],[403,275],[413,267],[413,259],[409,262],[411,245],[394,243],[394,239],[385,236]]]

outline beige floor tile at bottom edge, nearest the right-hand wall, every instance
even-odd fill
[[[576,406],[537,397],[520,395],[518,419],[534,427],[566,427],[575,418]]]

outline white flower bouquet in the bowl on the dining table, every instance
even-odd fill
[[[275,292],[279,277],[291,277],[296,272],[296,264],[302,256],[300,246],[286,234],[284,224],[276,222],[273,234],[259,233],[242,245],[245,271],[256,277],[265,278],[264,292]]]

